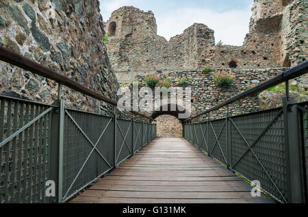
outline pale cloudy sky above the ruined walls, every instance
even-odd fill
[[[204,23],[215,31],[216,42],[242,45],[248,33],[253,0],[100,0],[103,20],[122,6],[153,11],[157,34],[167,40],[183,33],[194,23]]]

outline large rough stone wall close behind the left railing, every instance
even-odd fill
[[[103,44],[103,19],[97,0],[0,0],[0,43],[105,97],[119,87]],[[0,93],[53,103],[55,82],[0,62]],[[99,101],[68,88],[67,107],[99,112]],[[110,105],[101,103],[103,114]]]

